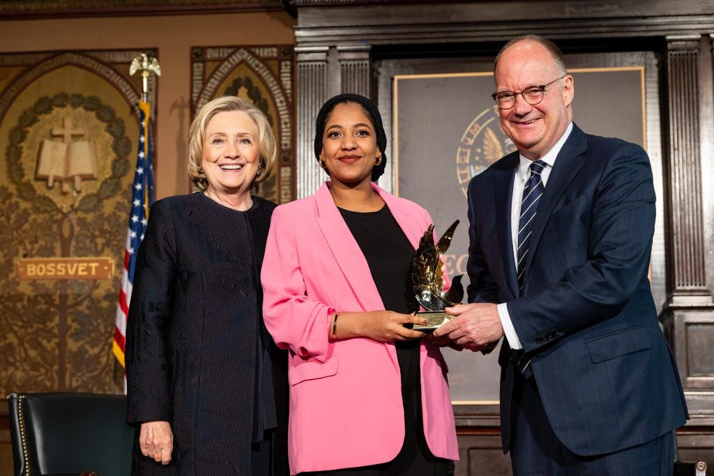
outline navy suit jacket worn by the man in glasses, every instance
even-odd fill
[[[522,295],[511,239],[517,168],[511,153],[469,184],[469,302],[508,303],[548,420],[568,450],[601,455],[683,425],[682,386],[648,280],[655,191],[647,154],[573,124],[534,218]],[[504,452],[510,356],[505,342]]]

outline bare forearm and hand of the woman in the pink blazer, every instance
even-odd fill
[[[426,334],[404,327],[404,324],[426,324],[427,320],[413,314],[395,313],[391,310],[373,310],[366,313],[339,313],[336,337],[346,339],[368,337],[381,342],[423,338]]]

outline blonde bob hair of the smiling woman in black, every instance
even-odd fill
[[[213,116],[221,112],[243,111],[248,114],[258,129],[258,173],[251,183],[251,191],[255,192],[257,184],[268,178],[273,166],[275,166],[278,155],[273,129],[268,122],[268,118],[260,109],[253,106],[245,99],[237,96],[223,96],[206,103],[201,111],[198,111],[196,118],[191,123],[188,131],[188,175],[198,190],[205,191],[208,188],[206,173],[203,173],[201,161],[203,161],[203,143],[206,141],[206,126]]]

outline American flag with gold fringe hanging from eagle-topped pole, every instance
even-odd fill
[[[131,287],[136,269],[136,252],[146,233],[149,219],[149,207],[154,203],[154,173],[151,168],[151,134],[149,133],[149,103],[139,101],[139,153],[136,157],[134,184],[131,188],[131,213],[129,229],[126,231],[126,249],[124,250],[124,272],[121,273],[119,305],[116,307],[116,326],[112,350],[116,359],[124,367],[124,343],[126,340],[126,316],[129,315]]]

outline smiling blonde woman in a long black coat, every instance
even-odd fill
[[[251,195],[276,161],[275,138],[235,96],[206,103],[190,136],[199,191],[154,203],[136,256],[132,474],[283,475],[286,355],[263,325],[259,273],[275,204]]]

